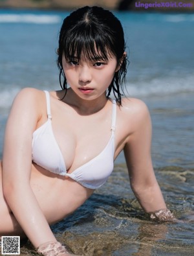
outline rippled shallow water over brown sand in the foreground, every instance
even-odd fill
[[[149,221],[129,188],[125,165],[120,164],[102,189],[72,216],[52,227],[56,237],[74,253],[89,256],[193,255],[193,195],[188,193],[188,187],[190,190],[193,186],[193,169],[166,167],[156,170],[156,176],[167,205],[184,222]],[[30,253],[27,248],[21,251]]]

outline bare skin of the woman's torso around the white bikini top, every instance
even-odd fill
[[[45,93],[41,93],[43,100],[39,102],[39,109],[42,113],[36,129],[47,122]],[[93,115],[80,115],[72,106],[60,101],[59,97],[63,97],[63,91],[58,95],[56,92],[50,93],[52,130],[65,159],[67,170],[71,173],[102,152],[107,145],[111,137],[112,102],[107,100],[104,108]],[[130,131],[133,132],[133,126],[130,127],[128,122],[133,115],[133,110],[128,108],[129,104],[133,103],[124,99],[123,107],[117,106],[114,159],[124,148]],[[129,115],[127,118],[126,114]],[[49,223],[57,222],[69,215],[93,192],[92,189],[83,187],[70,178],[52,174],[36,164],[32,164],[30,181]]]

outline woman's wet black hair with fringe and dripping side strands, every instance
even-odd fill
[[[116,101],[121,104],[120,91],[124,91],[123,84],[127,73],[127,58],[124,51],[124,30],[112,12],[98,6],[85,6],[75,10],[65,17],[59,33],[57,64],[61,88],[67,91],[67,79],[62,65],[63,54],[66,60],[72,60],[76,55],[78,62],[80,58],[108,60],[110,56],[115,56],[120,69],[114,74],[107,89],[107,97],[113,90]]]

